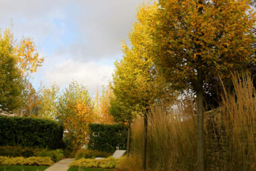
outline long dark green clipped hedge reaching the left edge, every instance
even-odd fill
[[[61,145],[61,123],[33,117],[0,117],[0,146],[57,149]]]

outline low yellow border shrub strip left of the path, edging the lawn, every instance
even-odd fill
[[[54,162],[49,157],[16,157],[0,156],[0,165],[28,165],[28,166],[52,166]]]

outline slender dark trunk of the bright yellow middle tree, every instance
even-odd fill
[[[144,115],[144,133],[143,133],[143,154],[142,154],[142,171],[146,171],[147,164],[147,141],[148,141],[148,113]]]

